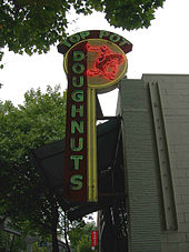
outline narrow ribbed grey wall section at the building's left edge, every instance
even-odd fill
[[[160,252],[160,218],[147,89],[141,80],[120,83],[129,252]]]

